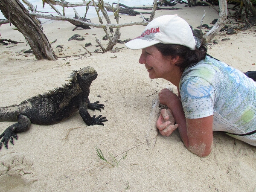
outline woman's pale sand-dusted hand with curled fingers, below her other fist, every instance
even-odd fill
[[[178,124],[174,125],[174,123],[175,119],[172,115],[172,111],[169,108],[167,110],[162,109],[156,122],[160,134],[167,137],[172,134],[172,132],[178,127]]]

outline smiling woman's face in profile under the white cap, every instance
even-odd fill
[[[150,79],[166,79],[170,76],[172,70],[170,60],[164,58],[162,53],[154,46],[142,49],[139,63],[145,65]]]

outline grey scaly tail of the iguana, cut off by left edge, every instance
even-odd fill
[[[0,121],[17,121],[21,111],[22,106],[20,105],[0,107]]]

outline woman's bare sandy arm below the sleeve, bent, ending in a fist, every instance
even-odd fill
[[[178,124],[180,137],[186,148],[199,157],[206,157],[212,149],[213,115],[198,119],[186,119],[179,97],[168,89],[160,91],[159,99],[172,111]]]

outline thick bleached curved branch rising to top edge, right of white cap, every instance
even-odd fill
[[[206,35],[204,35],[204,40],[206,42],[212,41],[214,36],[225,25],[225,20],[227,19],[227,1],[219,0],[219,8],[220,8],[220,13],[219,13],[218,21],[215,23],[215,25],[212,27],[212,29],[209,32],[207,32]]]

